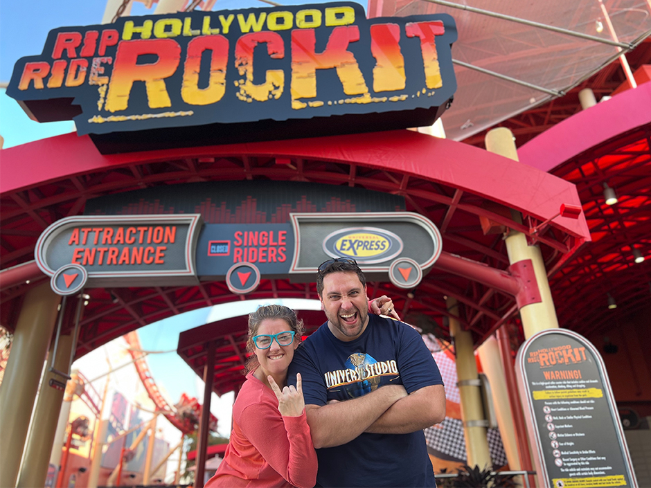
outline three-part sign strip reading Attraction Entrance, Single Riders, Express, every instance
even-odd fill
[[[410,212],[290,213],[281,224],[203,224],[200,214],[100,215],[46,228],[35,260],[49,276],[81,266],[87,287],[226,280],[243,294],[261,278],[310,282],[321,262],[339,256],[353,257],[371,279],[409,289],[440,252],[436,226]],[[72,283],[66,278],[58,289]]]

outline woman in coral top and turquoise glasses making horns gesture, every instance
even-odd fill
[[[303,320],[282,305],[249,314],[249,373],[233,404],[224,460],[206,488],[310,488],[316,483],[301,375],[296,376],[296,388],[286,386],[287,368],[302,335]]]

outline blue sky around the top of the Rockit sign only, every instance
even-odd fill
[[[326,3],[323,0],[280,0],[283,5],[301,3]],[[366,1],[358,1],[366,8]],[[247,7],[268,7],[259,0],[217,0],[213,10]],[[23,56],[33,56],[43,51],[48,32],[63,26],[88,26],[100,24],[106,8],[102,0],[0,0],[0,82],[11,78],[14,64]],[[131,15],[145,15],[143,3],[134,2]],[[72,122],[35,123],[19,105],[0,89],[0,134],[3,147],[37,141],[38,139],[73,132]]]

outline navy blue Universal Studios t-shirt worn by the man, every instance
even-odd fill
[[[442,385],[438,366],[416,330],[397,320],[369,315],[362,336],[339,341],[328,323],[294,354],[287,381],[303,377],[306,405],[348,400],[382,385],[402,384],[408,393]],[[434,471],[422,431],[362,433],[343,446],[316,449],[322,487],[434,487]]]

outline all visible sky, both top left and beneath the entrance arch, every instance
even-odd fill
[[[308,3],[305,1],[278,1],[285,5]],[[309,3],[325,3],[310,1]],[[360,1],[365,6],[366,1]],[[42,52],[48,32],[62,26],[85,26],[100,24],[106,2],[98,0],[57,0],[57,1],[10,1],[0,0],[0,83],[6,84],[11,77],[14,64],[20,57],[37,55]],[[218,0],[213,10],[226,10],[268,6],[258,0]],[[134,3],[132,15],[153,13],[146,10],[143,3]],[[39,124],[30,120],[17,102],[0,89],[0,134],[4,138],[3,147],[12,147],[36,141],[41,138],[66,134],[74,131],[72,121]],[[235,299],[235,296],[233,297]],[[268,301],[268,300],[267,300]],[[314,301],[314,300],[312,300]],[[258,303],[240,302],[233,304],[236,310],[226,307],[200,309],[181,316],[162,320],[159,323],[139,329],[141,345],[145,350],[176,350],[179,332],[203,325],[225,316],[238,316],[253,311]],[[294,306],[288,304],[288,306]],[[314,302],[308,307],[318,308]],[[242,317],[243,323],[246,318]],[[93,354],[93,353],[91,353]],[[168,391],[172,401],[178,401],[182,392],[192,397],[203,395],[202,382],[180,359],[176,352],[150,354],[147,358],[154,379]],[[134,372],[135,374],[135,372]],[[226,395],[224,395],[226,396]],[[226,398],[222,406],[213,406],[211,410],[220,417],[220,433],[229,432],[230,399]]]

